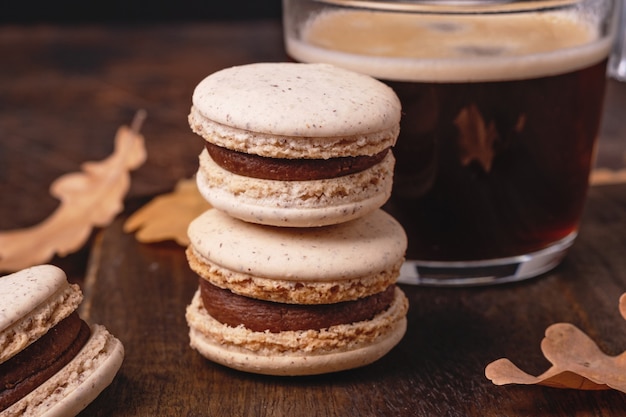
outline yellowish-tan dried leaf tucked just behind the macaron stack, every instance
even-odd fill
[[[210,207],[202,198],[194,179],[180,180],[174,192],[155,197],[133,213],[124,223],[124,231],[139,230],[136,238],[144,243],[172,239],[181,246],[187,246],[187,226]]]

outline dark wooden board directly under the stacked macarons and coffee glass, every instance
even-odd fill
[[[497,387],[484,367],[506,356],[541,373],[539,343],[556,322],[579,326],[609,354],[626,350],[626,186],[592,190],[565,262],[535,280],[487,288],[403,286],[409,330],[380,361],[333,375],[279,378],[211,363],[188,347],[184,310],[197,288],[183,248],[121,230],[95,239],[84,311],[126,347],[120,374],[84,415],[592,416],[626,413],[616,391]]]

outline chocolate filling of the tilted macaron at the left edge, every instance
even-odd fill
[[[74,312],[0,364],[0,411],[10,407],[68,364],[87,343],[91,330]]]

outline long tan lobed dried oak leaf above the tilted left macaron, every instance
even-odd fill
[[[50,186],[59,207],[41,223],[24,229],[0,232],[0,270],[18,271],[48,262],[55,254],[65,256],[80,249],[92,227],[106,226],[123,209],[130,187],[129,170],[146,160],[139,127],[145,117],[138,113],[133,128],[121,126],[114,152],[98,162],[82,165],[82,172],[63,175]]]

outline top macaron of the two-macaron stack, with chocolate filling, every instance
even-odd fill
[[[195,88],[188,120],[204,138],[198,188],[239,219],[336,224],[391,194],[400,101],[367,75],[327,64],[226,68]]]

